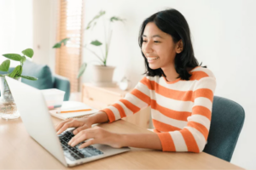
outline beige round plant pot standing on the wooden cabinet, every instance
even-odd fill
[[[114,87],[116,84],[112,81],[114,66],[93,65],[92,83],[97,87]]]

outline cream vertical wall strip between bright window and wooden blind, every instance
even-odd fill
[[[55,72],[55,49],[57,2],[51,0],[32,0],[33,11],[33,61],[49,65]]]

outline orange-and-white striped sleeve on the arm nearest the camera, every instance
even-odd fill
[[[201,152],[209,133],[215,77],[204,77],[195,82],[194,105],[188,123],[181,130],[158,133],[163,151]]]

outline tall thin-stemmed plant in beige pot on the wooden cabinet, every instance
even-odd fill
[[[105,11],[100,11],[99,14],[96,14],[96,16],[90,20],[88,25],[84,30],[92,30],[94,26],[96,26],[96,23],[99,21],[99,19],[102,18],[102,16],[106,14]],[[119,17],[113,16],[111,17],[108,22],[109,24],[112,24],[114,21],[124,21],[124,19],[120,19]],[[101,63],[101,65],[93,65],[93,82],[96,86],[113,86],[112,77],[113,77],[113,70],[115,67],[108,66],[108,52],[112,37],[112,30],[106,31],[106,27],[104,26],[104,32],[105,32],[105,42],[100,42],[99,40],[93,40],[90,42],[90,44],[85,44],[83,47],[90,51],[91,54],[94,54],[98,61]],[[106,33],[107,32],[107,33]],[[61,44],[66,45],[67,41],[70,41],[70,38],[64,38],[60,42],[55,43],[53,48],[61,48]],[[90,46],[96,46],[98,48],[102,48],[105,53],[102,53],[102,55],[96,54],[92,49],[90,49]],[[79,74],[78,78],[81,77],[86,69],[87,63],[83,63],[81,67],[79,68]]]

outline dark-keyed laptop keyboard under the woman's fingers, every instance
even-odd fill
[[[64,133],[61,133],[59,135],[61,146],[62,146],[62,149],[64,150],[64,155],[71,161],[75,161],[75,160],[79,160],[79,159],[83,159],[91,156],[99,156],[103,154],[101,150],[97,150],[92,145],[89,145],[83,149],[79,149],[79,145],[84,144],[84,142],[81,142],[74,147],[68,145],[69,140],[72,139],[73,136],[74,136],[73,133],[69,131],[65,131]]]

